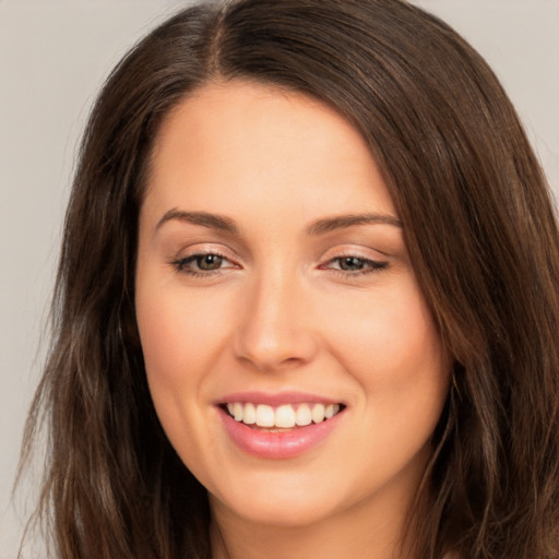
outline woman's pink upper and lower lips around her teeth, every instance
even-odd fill
[[[236,421],[223,407],[227,402],[253,402],[270,406],[297,403],[335,404],[336,401],[302,393],[265,394],[243,392],[230,394],[218,402],[219,417],[225,430],[238,447],[245,452],[262,459],[285,460],[299,456],[313,449],[324,440],[340,424],[344,412],[320,424],[311,424],[285,431],[269,431],[254,429],[240,421]]]

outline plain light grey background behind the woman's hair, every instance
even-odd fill
[[[559,1],[414,3],[454,26],[496,70],[559,198]],[[40,473],[11,503],[80,133],[111,67],[186,4],[0,0],[0,559],[16,556]]]

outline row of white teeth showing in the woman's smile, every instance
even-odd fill
[[[290,429],[330,419],[340,412],[340,404],[284,404],[274,409],[265,404],[231,402],[227,404],[227,411],[236,421],[246,425]]]

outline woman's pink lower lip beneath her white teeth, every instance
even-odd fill
[[[229,437],[245,451],[254,456],[271,460],[285,460],[299,456],[323,441],[340,424],[344,411],[321,421],[289,431],[266,431],[253,429],[236,421],[227,412],[219,408],[219,416]]]

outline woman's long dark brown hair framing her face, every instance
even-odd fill
[[[485,61],[400,0],[189,8],[135,46],[85,131],[26,432],[44,418],[39,514],[63,559],[207,558],[203,487],[151,403],[134,319],[138,214],[162,120],[204,83],[306,93],[382,169],[453,388],[411,524],[415,556],[559,557],[559,235],[546,182]],[[418,502],[419,502],[418,501]]]

